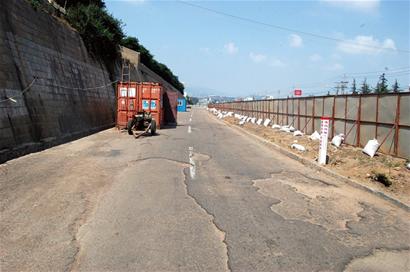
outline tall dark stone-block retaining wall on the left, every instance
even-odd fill
[[[0,163],[112,126],[110,81],[64,22],[24,0],[0,1]]]

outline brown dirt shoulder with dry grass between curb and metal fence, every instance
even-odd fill
[[[241,127],[255,135],[275,143],[282,148],[286,148],[305,159],[315,161],[319,153],[319,141],[308,138],[309,135],[293,136],[293,133],[272,129],[270,124],[253,124],[251,122],[239,125],[239,120],[233,117],[226,117],[224,121],[230,125]],[[305,151],[297,151],[291,148],[293,143],[305,147]],[[386,195],[400,200],[406,205],[410,205],[410,170],[406,169],[406,160],[395,158],[390,155],[377,153],[373,158],[362,152],[361,148],[342,144],[337,148],[328,145],[329,163],[326,168],[341,174],[347,178],[381,191]],[[390,186],[385,186],[375,180],[376,175],[385,175],[390,181]]]

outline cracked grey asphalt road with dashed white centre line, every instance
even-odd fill
[[[410,215],[204,109],[0,165],[1,271],[410,271]]]

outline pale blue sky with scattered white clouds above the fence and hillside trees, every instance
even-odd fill
[[[193,95],[288,95],[333,91],[336,81],[371,85],[386,71],[389,84],[410,83],[410,1],[178,1],[106,0],[125,24]],[[348,41],[347,43],[343,40]],[[407,69],[407,70],[406,70]],[[346,77],[344,77],[346,75]],[[350,83],[349,83],[350,85]]]

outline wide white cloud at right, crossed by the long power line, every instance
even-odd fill
[[[340,42],[337,48],[348,54],[375,55],[388,51],[385,49],[396,50],[396,45],[392,39],[385,39],[381,42],[373,36],[356,36],[353,40]]]

